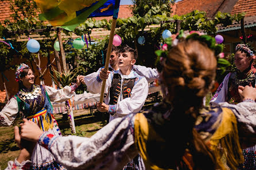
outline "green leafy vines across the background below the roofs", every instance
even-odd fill
[[[14,11],[12,15],[14,20],[8,20],[0,26],[0,37],[13,38],[10,42],[14,49],[9,48],[6,44],[0,44],[0,71],[3,72],[7,69],[15,69],[16,66],[11,64],[11,61],[17,58],[26,58],[28,62],[33,62],[32,53],[29,53],[26,49],[25,42],[17,42],[15,38],[18,38],[18,30],[23,30],[26,35],[40,34],[50,37],[51,25],[44,23],[37,18],[37,9],[34,1],[25,0],[11,0],[11,9]],[[131,48],[138,50],[138,60],[136,64],[144,65],[155,68],[157,49],[164,44],[162,39],[162,31],[165,29],[170,30],[172,33],[176,33],[176,24],[174,20],[180,20],[180,28],[184,30],[202,30],[210,35],[215,35],[217,31],[216,25],[231,25],[234,21],[241,20],[245,14],[231,15],[228,13],[218,12],[214,18],[207,18],[204,11],[192,11],[185,15],[174,15],[170,17],[172,9],[170,3],[174,1],[158,1],[158,0],[133,0],[134,6],[133,17],[125,19],[117,19],[117,26],[115,33],[122,38],[122,44],[127,44]],[[24,18],[21,18],[21,14]],[[94,18],[88,18],[84,23],[80,24],[73,30],[76,35],[88,35],[91,34],[92,29],[103,28],[104,30],[110,30],[111,20],[106,19],[96,20]],[[149,25],[155,25],[157,27],[148,27]],[[33,30],[44,29],[40,33],[33,33]],[[27,30],[32,30],[32,33],[28,33]],[[72,32],[67,30],[63,31],[67,35],[71,35]],[[145,44],[139,45],[137,39],[139,36],[144,36],[146,39]],[[47,57],[53,53],[53,44],[57,35],[54,35],[50,40],[39,41],[41,49],[39,53],[43,57]],[[67,41],[68,39],[64,39]],[[108,36],[102,39],[96,39],[96,44],[89,45],[88,48],[85,45],[83,49],[77,50],[72,48],[71,44],[63,44],[66,53],[66,61],[69,64],[71,70],[76,69],[78,65],[78,74],[87,75],[92,72],[96,72],[103,64],[103,57],[106,58],[106,49],[108,44]],[[104,54],[102,57],[102,53]],[[35,69],[34,69],[35,71]],[[77,89],[77,92],[83,92],[85,86]]]

